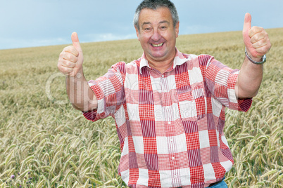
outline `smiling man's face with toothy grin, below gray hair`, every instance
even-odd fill
[[[179,22],[173,25],[169,8],[144,8],[139,13],[137,37],[149,62],[166,62],[175,58],[175,44]]]

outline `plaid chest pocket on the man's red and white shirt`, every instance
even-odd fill
[[[206,98],[203,83],[177,90],[180,117],[182,121],[197,121],[206,116]]]

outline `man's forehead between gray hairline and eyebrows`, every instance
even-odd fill
[[[156,10],[144,8],[139,13],[139,24],[145,22],[154,24],[163,21],[172,22],[172,15],[167,7],[156,8]]]

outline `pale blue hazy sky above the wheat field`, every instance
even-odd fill
[[[137,39],[132,24],[142,0],[0,0],[0,50],[80,42]],[[241,31],[252,26],[283,27],[283,0],[172,0],[180,34]]]

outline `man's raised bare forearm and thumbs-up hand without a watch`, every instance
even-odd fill
[[[72,34],[73,46],[63,49],[59,55],[58,69],[66,76],[68,98],[75,109],[87,112],[96,109],[97,100],[94,92],[84,78],[82,62],[84,57],[77,33]]]

